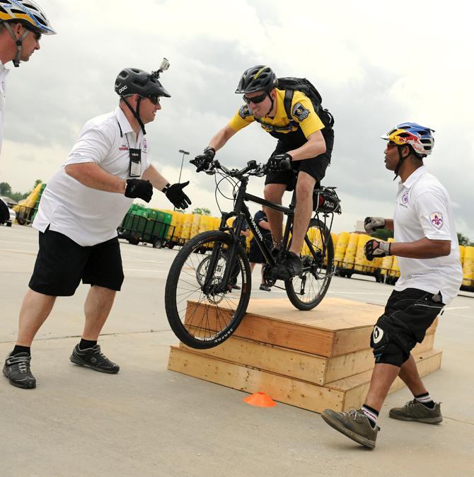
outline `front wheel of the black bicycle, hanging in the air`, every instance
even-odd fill
[[[166,280],[165,309],[171,329],[185,345],[197,349],[219,345],[236,331],[247,310],[250,263],[240,243],[229,263],[228,283],[222,282],[232,240],[226,232],[203,232],[173,260]]]

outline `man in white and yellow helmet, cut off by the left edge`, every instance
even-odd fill
[[[9,69],[5,64],[28,62],[40,50],[41,35],[54,35],[42,8],[34,1],[2,0],[0,5],[0,152],[4,137],[5,81]],[[6,204],[0,200],[0,224],[10,218]]]

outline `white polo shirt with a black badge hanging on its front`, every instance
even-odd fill
[[[129,147],[141,149],[141,175],[149,167],[146,136],[134,133],[127,117],[117,107],[94,117],[83,126],[69,158],[47,182],[33,227],[60,232],[81,246],[93,246],[117,236],[117,226],[133,199],[82,185],[68,176],[69,164],[93,162],[104,171],[129,179]]]

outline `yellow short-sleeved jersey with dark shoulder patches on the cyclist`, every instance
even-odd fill
[[[293,100],[291,101],[291,118],[287,116],[287,112],[284,109],[284,90],[275,89],[277,91],[277,111],[274,117],[265,116],[258,122],[262,128],[267,132],[282,132],[287,134],[294,132],[301,127],[306,138],[313,134],[313,132],[323,129],[323,122],[315,113],[313,103],[311,100],[301,91],[295,91]],[[248,108],[248,105],[243,105],[236,115],[229,121],[229,126],[234,131],[240,131],[243,127],[248,126],[250,122],[257,121],[252,114],[252,111]]]

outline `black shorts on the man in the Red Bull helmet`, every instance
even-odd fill
[[[405,362],[416,343],[424,340],[427,329],[443,307],[440,292],[434,295],[417,288],[407,288],[401,292],[393,290],[376,326],[394,338],[395,345],[403,352]],[[371,347],[374,347],[373,336]]]

